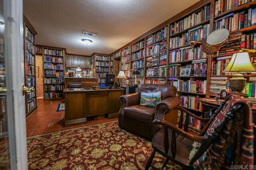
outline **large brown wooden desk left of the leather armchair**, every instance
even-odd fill
[[[87,123],[86,117],[118,113],[124,89],[66,88],[64,127]]]

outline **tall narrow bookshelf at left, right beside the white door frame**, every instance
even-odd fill
[[[34,92],[25,95],[26,117],[35,109],[36,104],[36,48],[35,35],[36,30],[24,16],[24,78],[26,87],[34,87]]]

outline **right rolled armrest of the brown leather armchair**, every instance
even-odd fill
[[[177,107],[181,104],[181,98],[178,96],[170,97],[164,100],[161,100],[156,104],[156,113],[163,112],[164,114],[169,113],[174,107]],[[164,106],[160,108],[160,106]],[[157,118],[156,118],[157,119]]]

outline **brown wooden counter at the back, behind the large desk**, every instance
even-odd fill
[[[64,88],[68,88],[69,84],[82,84],[82,82],[95,82],[96,86],[99,84],[99,78],[87,77],[64,77]]]

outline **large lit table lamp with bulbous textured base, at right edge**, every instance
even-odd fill
[[[234,53],[228,66],[223,70],[223,72],[237,72],[229,79],[230,90],[232,93],[236,93],[240,96],[246,96],[246,94],[242,93],[245,87],[246,78],[244,78],[240,72],[255,71],[256,70],[252,66],[248,52]]]

